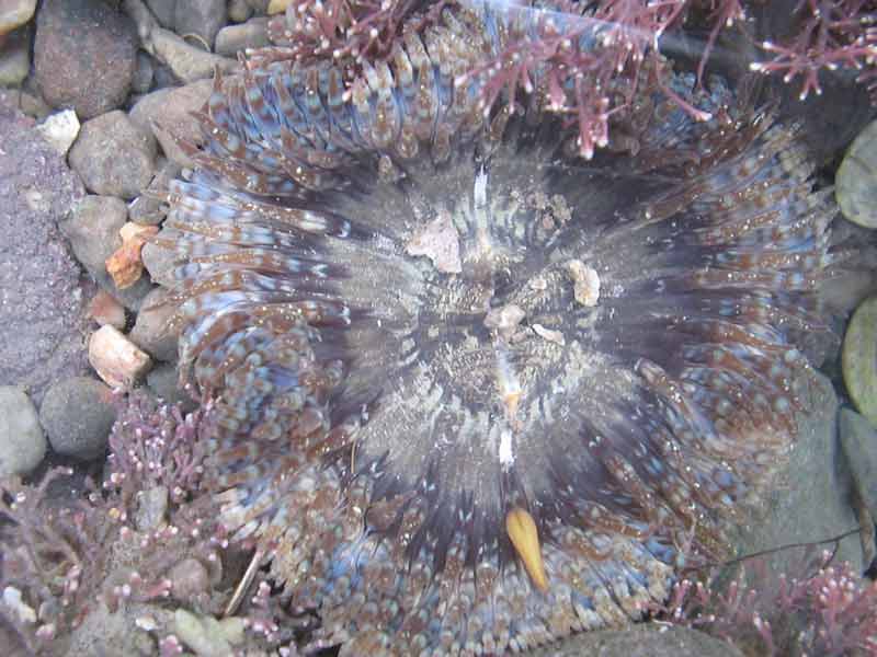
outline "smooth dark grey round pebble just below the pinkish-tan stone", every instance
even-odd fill
[[[110,388],[88,377],[73,377],[48,389],[39,422],[52,448],[83,461],[103,454],[116,407]]]

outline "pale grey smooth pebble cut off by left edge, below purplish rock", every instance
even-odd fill
[[[46,454],[36,408],[16,385],[0,387],[0,477],[29,474]]]

